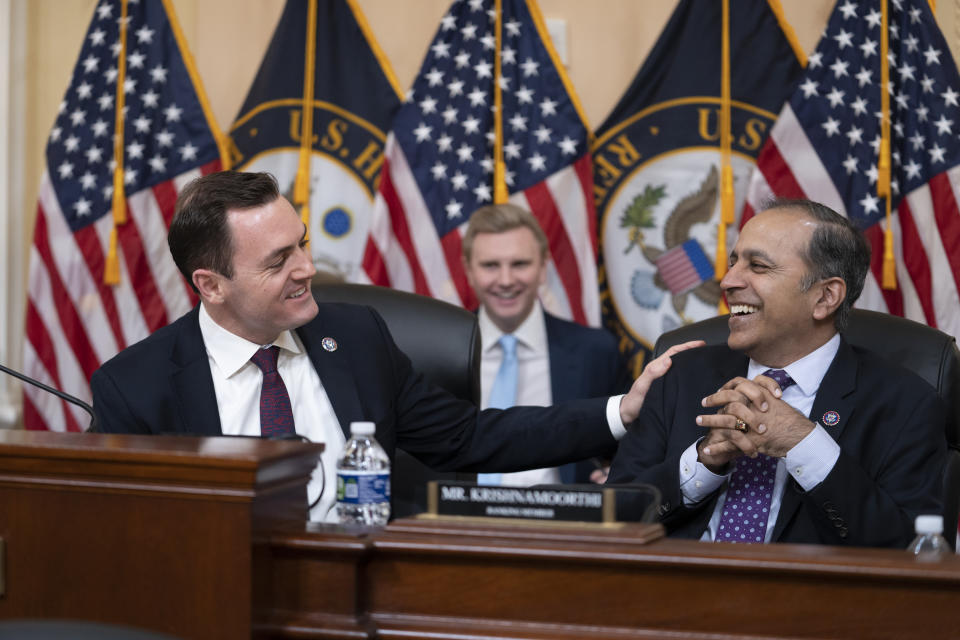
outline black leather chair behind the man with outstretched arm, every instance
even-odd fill
[[[373,307],[383,316],[397,346],[430,382],[480,406],[480,329],[476,315],[460,307],[386,287],[314,283],[317,302],[349,302]],[[393,517],[427,509],[429,480],[471,480],[475,474],[433,471],[398,450],[391,472]]]

